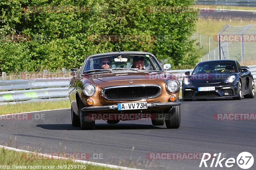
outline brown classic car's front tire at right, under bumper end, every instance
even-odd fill
[[[178,129],[180,127],[180,106],[173,106],[171,109],[167,109],[164,112],[165,125],[168,129]]]

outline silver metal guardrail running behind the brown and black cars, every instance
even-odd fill
[[[248,66],[256,79],[256,65]],[[180,81],[188,70],[170,70]],[[2,80],[0,81],[0,105],[33,101],[67,99],[70,80]],[[25,90],[24,90],[25,89]]]

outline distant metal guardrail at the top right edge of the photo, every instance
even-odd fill
[[[229,5],[229,6],[256,6],[256,0],[198,0],[196,4]]]

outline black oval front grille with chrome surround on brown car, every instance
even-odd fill
[[[159,85],[124,85],[102,89],[102,95],[108,100],[140,100],[159,96]]]

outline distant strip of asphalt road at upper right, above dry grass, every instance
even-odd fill
[[[243,20],[255,20],[256,12],[248,11],[226,11],[226,10],[210,10],[200,13],[202,18],[214,18],[214,19],[243,19]]]

